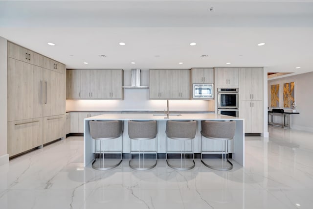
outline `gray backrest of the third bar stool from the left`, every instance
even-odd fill
[[[166,123],[166,135],[169,138],[195,138],[197,121],[174,121]]]

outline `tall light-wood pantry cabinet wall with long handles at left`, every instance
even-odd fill
[[[10,157],[65,137],[65,65],[8,42]]]

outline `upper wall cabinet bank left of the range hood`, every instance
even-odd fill
[[[67,99],[123,99],[123,70],[67,70]]]

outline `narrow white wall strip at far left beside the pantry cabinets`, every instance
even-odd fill
[[[0,165],[9,162],[7,154],[7,40],[0,37]]]

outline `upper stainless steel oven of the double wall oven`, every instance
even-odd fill
[[[225,108],[239,108],[239,93],[238,88],[233,89],[225,89],[218,88],[217,89],[217,108],[225,109]]]

